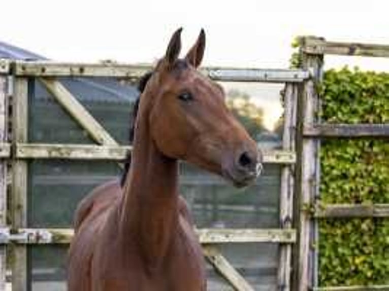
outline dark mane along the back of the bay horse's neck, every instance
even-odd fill
[[[139,79],[139,83],[138,83],[137,88],[138,88],[138,91],[140,94],[139,94],[137,100],[135,100],[134,108],[133,108],[133,111],[131,112],[131,117],[129,119],[129,133],[128,133],[129,144],[132,144],[134,142],[135,121],[137,120],[137,116],[138,116],[139,101],[141,99],[143,91],[145,90],[147,82],[150,80],[152,74],[153,74],[152,71],[147,72],[145,75],[143,75]],[[125,160],[124,160],[124,168],[123,168],[123,171],[122,171],[121,177],[120,177],[120,186],[121,187],[123,187],[123,185],[124,185],[125,178],[127,177],[127,173],[128,173],[130,166],[131,166],[131,151],[128,151],[127,155],[125,157]]]

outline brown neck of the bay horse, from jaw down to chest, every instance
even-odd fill
[[[178,226],[177,161],[158,151],[147,117],[140,116],[137,123],[119,212],[120,237],[124,246],[137,241],[147,263],[157,266]]]

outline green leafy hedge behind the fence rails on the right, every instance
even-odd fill
[[[324,122],[389,122],[389,74],[329,70],[320,91]],[[327,140],[320,160],[323,203],[389,203],[389,142]],[[328,220],[319,231],[320,285],[389,283],[389,220]]]

